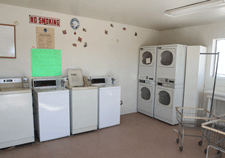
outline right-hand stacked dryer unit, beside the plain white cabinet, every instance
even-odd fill
[[[154,117],[177,124],[175,107],[182,107],[185,77],[185,45],[158,46]]]

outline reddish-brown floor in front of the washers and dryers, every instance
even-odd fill
[[[178,126],[139,113],[121,116],[121,124],[43,143],[1,150],[0,158],[204,158],[206,144],[186,137],[176,143]],[[215,152],[215,151],[212,151]]]

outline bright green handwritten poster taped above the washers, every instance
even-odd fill
[[[32,77],[62,75],[61,50],[31,49]]]

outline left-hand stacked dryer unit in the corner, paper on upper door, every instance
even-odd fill
[[[143,46],[139,57],[138,112],[153,117],[157,46]]]

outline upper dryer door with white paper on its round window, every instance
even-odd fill
[[[140,65],[141,66],[148,66],[148,67],[153,67],[154,62],[155,62],[155,54],[156,50],[155,49],[143,49],[140,51]]]

